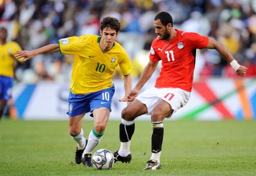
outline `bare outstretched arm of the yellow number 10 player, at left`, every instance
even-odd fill
[[[16,55],[14,57],[16,59],[25,57],[24,61],[27,61],[27,60],[31,59],[32,57],[37,56],[38,54],[43,54],[43,53],[48,53],[48,52],[57,52],[57,51],[59,51],[59,44],[50,44],[50,45],[43,46],[38,49],[34,49],[32,51],[25,51],[25,50],[17,51],[17,52],[15,52]]]

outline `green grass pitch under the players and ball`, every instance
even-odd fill
[[[96,149],[119,148],[119,123],[108,122]],[[83,122],[86,136],[92,126]],[[165,121],[164,128],[162,170],[144,170],[151,155],[149,120],[135,123],[130,164],[95,170],[74,164],[68,121],[3,119],[0,176],[256,176],[256,121]]]

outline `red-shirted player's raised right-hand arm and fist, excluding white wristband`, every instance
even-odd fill
[[[209,43],[206,47],[207,49],[216,49],[219,54],[224,58],[228,63],[232,62],[234,60],[234,57],[231,55],[231,53],[228,51],[228,49],[222,44],[219,43],[216,40],[209,38]],[[244,67],[243,65],[240,65],[240,67],[237,69],[237,74],[240,76],[244,76],[247,72],[248,68]]]

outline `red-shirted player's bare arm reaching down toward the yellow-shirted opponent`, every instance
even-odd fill
[[[146,67],[144,68],[142,74],[140,75],[140,79],[138,80],[136,86],[133,90],[128,94],[128,101],[131,102],[138,96],[140,89],[144,86],[144,84],[149,80],[154,71],[156,70],[158,62],[149,61]]]

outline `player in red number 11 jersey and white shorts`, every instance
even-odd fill
[[[131,161],[129,148],[135,128],[134,119],[142,114],[151,114],[152,155],[145,170],[161,169],[163,120],[165,117],[171,117],[190,98],[196,49],[216,49],[238,75],[244,76],[247,71],[221,43],[194,32],[173,28],[172,16],[167,12],[156,15],[154,27],[157,37],[151,45],[150,61],[128,95],[129,101],[132,102],[122,111],[122,123],[119,126],[121,145],[114,153],[115,161]],[[140,89],[156,70],[159,60],[162,60],[162,68],[155,86],[138,96]]]

